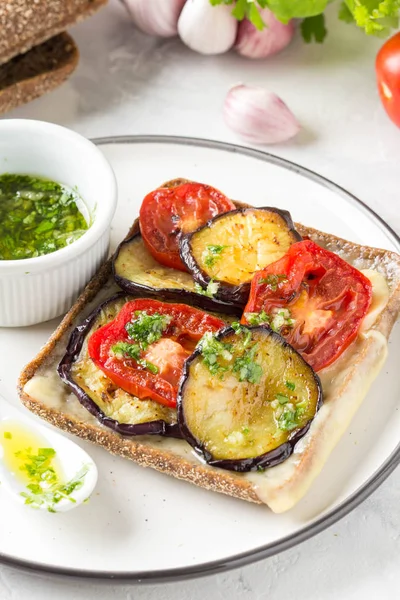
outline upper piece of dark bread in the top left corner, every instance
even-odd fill
[[[0,0],[0,64],[90,16],[107,0]]]

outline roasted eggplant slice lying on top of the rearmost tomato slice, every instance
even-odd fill
[[[218,215],[181,239],[181,258],[193,278],[215,297],[243,306],[254,273],[301,240],[290,213],[277,208],[239,208]]]

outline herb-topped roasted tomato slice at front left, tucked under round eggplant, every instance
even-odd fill
[[[120,342],[140,343],[128,335],[126,325],[135,322],[143,313],[170,318],[160,337],[143,348],[138,357],[139,361],[151,363],[157,369],[156,373],[148,370],[146,362],[139,364],[134,358],[112,351],[112,347]],[[127,302],[113,321],[90,336],[89,356],[115,385],[129,394],[175,407],[186,358],[207,331],[218,331],[224,326],[221,319],[186,304],[140,298]]]

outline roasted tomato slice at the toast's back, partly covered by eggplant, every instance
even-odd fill
[[[150,254],[162,265],[186,271],[179,255],[182,233],[195,231],[235,205],[210,185],[183,183],[159,188],[148,194],[140,208],[143,241]]]

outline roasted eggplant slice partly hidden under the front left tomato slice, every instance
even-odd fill
[[[132,298],[118,294],[101,304],[76,327],[58,366],[61,379],[79,402],[103,425],[123,435],[169,435],[180,437],[176,410],[153,400],[139,400],[121,390],[98,368],[88,354],[88,339],[112,321]]]

